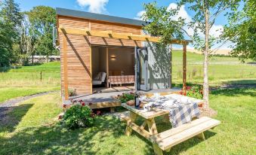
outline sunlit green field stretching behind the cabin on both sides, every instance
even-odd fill
[[[182,83],[182,52],[173,52],[174,84]],[[202,84],[203,56],[187,53],[187,82]],[[42,71],[42,80],[41,80]],[[234,57],[212,56],[209,65],[210,85],[224,83],[256,84],[256,65],[241,63]],[[0,102],[50,90],[60,90],[60,62],[22,66],[0,72]]]

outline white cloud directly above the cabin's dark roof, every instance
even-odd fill
[[[88,7],[88,11],[93,13],[102,13],[106,11],[105,5],[109,0],[76,0],[81,7]]]

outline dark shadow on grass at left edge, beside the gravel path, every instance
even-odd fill
[[[33,104],[18,105],[15,107],[0,107],[0,132],[13,132],[22,117]],[[15,111],[15,114],[13,114]]]

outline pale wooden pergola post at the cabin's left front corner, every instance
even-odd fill
[[[67,78],[67,53],[66,53],[66,34],[63,33],[63,71],[64,71],[64,93],[65,100],[69,99],[69,84]]]

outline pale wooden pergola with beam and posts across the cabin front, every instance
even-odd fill
[[[148,41],[148,42],[159,42],[159,37],[153,37],[150,35],[134,35],[132,33],[120,33],[113,31],[99,31],[93,29],[73,29],[60,26],[58,32],[63,33],[63,74],[64,74],[64,92],[65,100],[68,100],[68,76],[67,76],[67,53],[66,53],[66,44],[67,44],[67,35],[84,35],[84,36],[95,36],[102,38],[116,38],[116,39],[126,39],[132,41]],[[186,93],[186,82],[187,82],[187,44],[190,41],[187,40],[178,40],[172,39],[170,44],[181,44],[183,45],[183,91]]]

